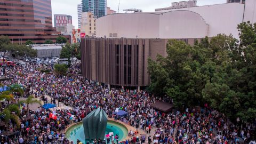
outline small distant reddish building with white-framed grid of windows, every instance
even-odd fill
[[[54,26],[67,26],[68,23],[72,24],[72,16],[66,14],[54,14]]]

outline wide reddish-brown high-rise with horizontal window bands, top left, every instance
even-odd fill
[[[0,35],[9,36],[13,43],[55,42],[60,35],[52,27],[51,0],[6,0],[0,1],[0,8]]]

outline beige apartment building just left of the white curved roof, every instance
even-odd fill
[[[85,33],[85,35],[87,36],[95,36],[96,25],[95,18],[92,12],[82,13],[81,33]]]

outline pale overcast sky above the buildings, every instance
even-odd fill
[[[119,0],[107,0],[107,6],[117,11],[118,2]],[[171,6],[172,2],[179,2],[179,0],[120,0],[119,13],[123,13],[124,9],[132,8],[141,9],[143,12],[154,12],[157,8]],[[226,0],[197,0],[197,5],[221,4],[226,2]],[[52,14],[71,15],[73,25],[77,28],[77,4],[80,3],[81,0],[52,0]]]

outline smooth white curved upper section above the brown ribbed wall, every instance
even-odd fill
[[[232,34],[239,38],[237,25],[247,21],[256,22],[256,0],[246,0],[245,4],[225,3],[151,13],[110,14],[96,20],[96,37],[178,39]]]

